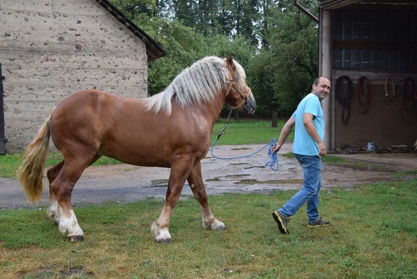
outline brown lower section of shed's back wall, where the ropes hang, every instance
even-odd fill
[[[413,146],[417,139],[417,99],[404,99],[404,79],[411,76],[417,82],[417,73],[400,72],[368,72],[356,70],[332,71],[332,96],[334,137],[332,147],[344,150],[346,147],[365,148],[369,142],[377,147]],[[350,118],[347,124],[343,123],[343,105],[336,100],[336,80],[340,76],[348,76],[354,85],[353,99],[350,104]],[[360,106],[357,95],[357,81],[361,76],[370,80],[369,107],[366,113]],[[385,84],[387,78],[395,82],[395,95],[386,96]],[[390,82],[388,83],[390,89]],[[408,83],[407,94],[410,96],[411,83]],[[364,92],[366,92],[364,87]],[[363,99],[362,99],[363,100]],[[405,101],[408,110],[404,107]],[[413,107],[414,106],[414,107]],[[345,112],[345,116],[347,112]]]

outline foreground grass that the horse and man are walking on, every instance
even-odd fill
[[[305,205],[282,235],[271,212],[295,191],[210,196],[227,226],[205,230],[196,201],[173,211],[173,244],[154,242],[162,200],[76,207],[86,241],[70,243],[42,210],[0,211],[0,278],[416,278],[417,180],[321,193],[323,228]]]

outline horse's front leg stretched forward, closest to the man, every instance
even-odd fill
[[[187,181],[191,187],[194,198],[200,204],[203,228],[211,228],[214,230],[225,229],[225,224],[217,220],[209,208],[206,189],[204,187],[203,178],[201,176],[200,162],[198,162],[197,166],[191,171]]]

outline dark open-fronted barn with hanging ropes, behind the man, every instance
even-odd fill
[[[318,0],[319,75],[329,150],[411,151],[417,139],[415,0]]]

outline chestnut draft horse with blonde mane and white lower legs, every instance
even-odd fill
[[[71,94],[52,108],[23,152],[17,177],[28,203],[43,196],[49,138],[63,160],[49,168],[47,215],[72,242],[84,240],[71,193],[83,171],[101,156],[146,167],[171,168],[165,204],[151,225],[157,243],[171,243],[172,210],[185,180],[200,205],[203,228],[225,229],[212,214],[200,160],[209,151],[210,135],[223,104],[255,112],[255,99],[242,66],[228,54],[205,57],[176,76],[166,89],[133,99],[87,89]]]

